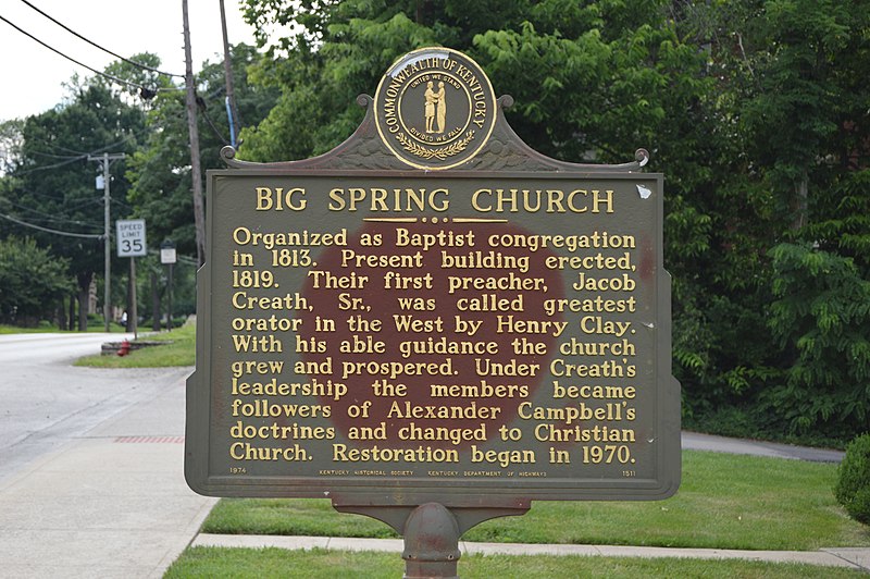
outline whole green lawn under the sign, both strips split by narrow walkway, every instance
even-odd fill
[[[870,529],[846,517],[831,488],[836,466],[719,453],[683,453],[683,484],[661,502],[535,502],[522,517],[493,519],[464,541],[658,545],[816,551],[870,546]],[[203,532],[397,537],[368,517],[333,510],[325,500],[224,498]],[[398,554],[281,549],[191,547],[167,578],[401,577]],[[750,560],[469,555],[465,578],[527,577],[866,577],[842,568]]]

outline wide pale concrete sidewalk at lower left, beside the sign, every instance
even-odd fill
[[[137,404],[0,480],[0,575],[162,577],[215,502],[184,481],[189,373],[167,369]]]

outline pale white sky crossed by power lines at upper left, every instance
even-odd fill
[[[182,0],[27,0],[52,19],[124,58],[160,57],[160,70],[184,75]],[[240,0],[224,0],[229,44],[253,45]],[[22,0],[0,0],[0,16],[69,57],[102,71],[117,60],[76,38]],[[188,0],[194,72],[223,59],[219,0]],[[45,112],[64,100],[62,84],[94,73],[0,20],[0,122]],[[176,79],[181,81],[181,79]]]

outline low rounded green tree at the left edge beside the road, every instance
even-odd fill
[[[72,287],[67,266],[33,238],[0,241],[0,321],[26,327],[51,320]]]

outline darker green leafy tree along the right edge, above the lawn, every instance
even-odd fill
[[[744,284],[721,293],[737,306],[731,319],[739,334],[728,331],[728,319],[701,325],[724,329],[719,335],[743,347],[711,356],[697,372],[709,386],[705,402],[746,409],[761,433],[828,430],[848,439],[866,428],[858,417],[868,408],[854,390],[866,387],[863,362],[845,364],[842,352],[860,352],[870,333],[854,323],[855,305],[841,301],[859,299],[846,288],[870,273],[870,91],[859,81],[868,73],[867,11],[861,2],[746,0],[708,4],[695,22],[710,39],[718,110],[737,145],[734,177],[717,196],[750,218],[732,212],[716,229],[728,234],[722,243],[738,242],[720,259]],[[775,340],[753,337],[769,333]],[[717,378],[722,371],[730,380]]]

